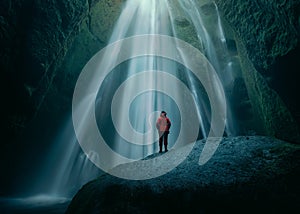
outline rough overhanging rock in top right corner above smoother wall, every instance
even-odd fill
[[[299,43],[299,1],[216,1],[236,34],[242,38],[249,59],[264,72]]]

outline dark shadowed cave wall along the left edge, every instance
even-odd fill
[[[47,127],[48,118],[39,118],[38,123],[34,118],[87,12],[85,0],[0,2],[1,134],[5,139],[0,144],[0,195],[21,191],[18,178],[34,178],[30,172],[41,162],[42,149],[49,148],[45,139],[54,129]]]

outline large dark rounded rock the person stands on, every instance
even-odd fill
[[[103,175],[83,186],[67,213],[299,210],[300,145],[260,136],[224,138],[214,156],[200,166],[203,146],[204,141],[198,141],[178,167],[158,178],[132,181]],[[168,160],[185,149],[171,150],[161,157]],[[139,163],[116,169],[126,171]]]

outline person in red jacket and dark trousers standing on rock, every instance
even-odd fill
[[[170,133],[171,121],[167,117],[167,113],[162,111],[160,117],[156,121],[156,128],[159,134],[159,153],[162,152],[162,143],[164,142],[165,152],[168,151],[168,135]]]

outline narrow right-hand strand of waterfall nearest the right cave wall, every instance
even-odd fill
[[[231,54],[226,45],[226,38],[222,27],[222,22],[219,14],[219,10],[214,1],[199,1],[194,0],[178,1],[183,9],[186,17],[193,23],[199,41],[203,46],[204,53],[210,63],[214,66],[216,72],[219,75],[222,85],[226,91],[230,91],[230,84],[233,82],[234,77],[230,70]],[[210,4],[208,4],[210,2]],[[202,4],[201,4],[202,3]],[[203,4],[205,3],[205,4]],[[214,13],[214,20],[208,19],[199,6],[211,5],[213,9],[210,9],[210,13]],[[212,25],[212,23],[214,23]],[[230,94],[226,93],[226,98],[230,99]],[[230,102],[227,102],[228,107]],[[235,135],[237,133],[237,127],[235,125],[235,119],[232,108],[227,108],[226,117],[226,134]]]

